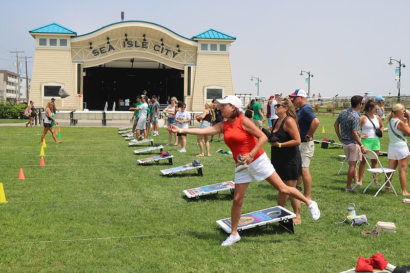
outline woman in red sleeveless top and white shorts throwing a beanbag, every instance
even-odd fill
[[[217,99],[221,106],[221,113],[226,122],[219,122],[207,128],[180,129],[175,125],[169,125],[168,131],[173,133],[183,133],[191,135],[216,135],[223,133],[224,141],[232,151],[234,160],[238,163],[238,155],[242,156],[242,164],[247,164],[248,168],[235,173],[235,195],[231,209],[232,231],[231,235],[222,242],[221,246],[232,245],[240,240],[238,234],[238,223],[242,212],[242,203],[245,193],[251,181],[267,180],[280,193],[290,195],[309,206],[313,220],[320,217],[317,203],[308,200],[296,188],[283,183],[275,172],[270,159],[264,152],[263,145],[268,138],[259,128],[248,118],[241,115],[240,99],[237,96],[226,96]]]

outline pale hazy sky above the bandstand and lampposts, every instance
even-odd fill
[[[210,28],[235,36],[230,49],[235,93],[256,95],[251,76],[262,80],[261,96],[308,91],[307,76],[300,76],[304,70],[314,75],[311,95],[397,95],[397,64],[388,66],[389,57],[410,65],[407,0],[16,0],[3,3],[2,10],[0,69],[13,72],[16,56],[10,51],[34,58],[29,30],[55,22],[82,35],[120,22],[121,11],[125,20],[156,23],[188,38]],[[410,67],[401,71],[400,93],[410,95]]]

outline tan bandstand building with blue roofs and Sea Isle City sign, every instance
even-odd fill
[[[128,109],[147,91],[162,104],[175,96],[189,111],[233,95],[230,46],[236,37],[214,29],[192,38],[149,22],[114,23],[87,34],[56,23],[30,30],[35,57],[29,99],[61,110]],[[61,99],[60,88],[70,93]]]

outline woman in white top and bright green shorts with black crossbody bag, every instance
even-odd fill
[[[376,135],[376,130],[384,130],[383,121],[377,115],[379,106],[373,99],[366,102],[364,106],[364,115],[360,116],[360,126],[362,129],[361,140],[367,150],[372,150],[379,156],[380,151],[380,138]],[[373,124],[374,126],[373,126]],[[362,161],[359,165],[359,183],[363,184],[363,175],[366,168],[366,160],[362,157]],[[372,159],[372,168],[377,168],[377,159]]]

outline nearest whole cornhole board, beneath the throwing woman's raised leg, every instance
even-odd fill
[[[260,211],[242,214],[238,223],[238,232],[242,230],[258,227],[265,228],[269,223],[279,222],[279,225],[288,232],[294,233],[292,218],[296,214],[288,211],[282,206],[274,206],[270,208],[261,209]],[[227,233],[232,231],[231,217],[216,221],[216,223]]]

